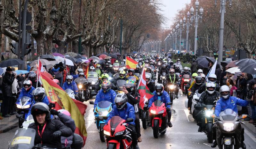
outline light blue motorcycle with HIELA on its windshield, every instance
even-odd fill
[[[93,101],[90,101],[91,105],[94,105]],[[97,129],[100,133],[100,141],[105,142],[105,137],[103,133],[103,127],[105,123],[107,123],[108,116],[112,110],[112,103],[109,101],[100,101],[96,108],[94,109],[94,117],[95,117],[95,123],[97,126]],[[102,120],[98,120],[97,118],[101,116],[103,117]]]

